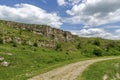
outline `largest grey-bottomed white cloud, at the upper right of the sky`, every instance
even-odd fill
[[[66,11],[71,18],[64,22],[72,24],[84,24],[98,26],[102,24],[120,21],[119,0],[87,0],[84,3],[73,5],[71,10]]]

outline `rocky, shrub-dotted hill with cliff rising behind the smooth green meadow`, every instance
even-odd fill
[[[0,42],[13,46],[29,45],[58,51],[79,51],[84,55],[117,55],[119,40],[84,38],[47,25],[23,24],[0,20]],[[92,54],[93,53],[93,54]]]

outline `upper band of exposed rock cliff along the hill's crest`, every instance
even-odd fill
[[[22,23],[10,22],[10,21],[0,21],[0,22],[5,23],[6,25],[16,29],[28,30],[35,34],[40,34],[48,38],[53,38],[54,41],[57,40],[73,41],[73,35],[70,32],[56,28],[51,28],[50,26],[47,25],[22,24]],[[18,38],[16,40],[20,41],[20,39]]]

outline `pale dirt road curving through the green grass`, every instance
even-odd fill
[[[40,74],[28,80],[75,80],[89,65],[116,58],[120,57],[80,61]]]

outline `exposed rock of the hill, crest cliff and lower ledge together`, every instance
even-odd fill
[[[18,29],[20,35],[22,35],[22,31],[26,30],[32,32],[33,34],[41,35],[42,37],[45,38],[43,40],[40,39],[41,37],[36,40],[29,40],[29,39],[25,40],[24,37],[20,37],[16,35],[10,36],[9,34],[12,34],[11,32],[9,31],[5,32],[5,30],[1,30],[0,31],[1,35],[4,34],[2,36],[3,43],[14,42],[17,44],[28,44],[30,46],[34,46],[34,44],[36,44],[38,47],[54,48],[58,41],[63,41],[63,42],[74,41],[73,35],[70,32],[52,28],[47,25],[22,24],[22,23],[2,21],[2,20],[0,20],[0,23],[5,24],[8,27]]]

